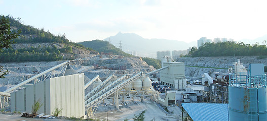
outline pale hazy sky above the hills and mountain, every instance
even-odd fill
[[[179,41],[255,39],[267,34],[267,1],[0,0],[0,14],[25,25],[66,34],[74,42],[118,32]]]

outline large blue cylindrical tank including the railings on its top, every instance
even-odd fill
[[[266,120],[266,75],[230,74],[229,120]]]

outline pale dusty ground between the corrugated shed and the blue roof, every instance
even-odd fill
[[[166,112],[163,108],[160,108],[155,102],[150,101],[136,101],[134,103],[128,102],[127,106],[120,106],[120,110],[101,111],[96,112],[94,119],[99,120],[133,120],[134,114],[139,115],[143,110],[145,120],[181,120],[181,110],[178,106],[168,106],[170,113]],[[102,107],[99,107],[102,108]],[[173,112],[173,113],[172,113]]]

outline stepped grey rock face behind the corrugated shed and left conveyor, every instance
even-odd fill
[[[63,62],[65,61],[1,63],[0,65],[4,67],[4,70],[9,70],[9,74],[6,75],[6,78],[0,79],[0,86],[19,84]],[[85,84],[97,75],[100,76],[100,79],[105,79],[111,74],[115,74],[118,77],[125,74],[133,76],[139,72],[147,73],[156,70],[154,67],[148,66],[140,57],[123,57],[118,55],[84,54],[84,58],[70,61],[69,66],[72,70],[66,71],[68,75],[84,73]]]

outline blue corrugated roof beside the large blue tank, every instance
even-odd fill
[[[182,103],[182,107],[194,120],[228,120],[228,104]]]

